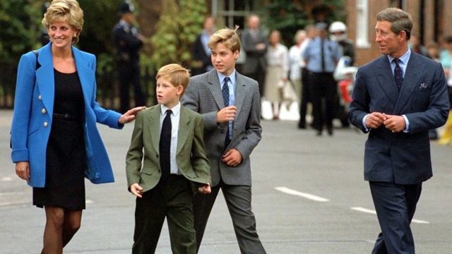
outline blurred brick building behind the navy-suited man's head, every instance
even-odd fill
[[[387,7],[397,7],[412,16],[412,34],[422,44],[441,42],[452,35],[452,0],[346,0],[347,26],[350,39],[355,41],[357,65],[380,56],[375,45],[376,14]]]

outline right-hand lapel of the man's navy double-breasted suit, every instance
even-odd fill
[[[410,99],[412,92],[414,92],[417,87],[417,84],[420,83],[419,79],[422,71],[421,67],[419,57],[415,54],[415,52],[411,52],[410,60],[408,60],[408,66],[405,71],[405,78],[403,79],[402,88],[400,89],[396,108],[394,109],[395,114],[402,111],[403,107],[405,107],[405,104],[407,104]]]

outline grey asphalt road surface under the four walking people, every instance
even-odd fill
[[[10,159],[12,111],[0,110],[0,253],[40,253],[44,210],[31,205],[31,188]],[[379,233],[369,185],[363,180],[367,135],[335,129],[333,137],[298,130],[294,121],[263,121],[251,155],[253,211],[267,253],[371,253]],[[99,126],[115,183],[86,183],[82,226],[64,253],[130,253],[133,196],[124,171],[133,123],[122,131]],[[452,253],[452,147],[432,142],[434,177],[423,185],[412,231],[416,253]],[[157,253],[171,253],[167,226]],[[218,196],[199,251],[239,253],[232,222]]]

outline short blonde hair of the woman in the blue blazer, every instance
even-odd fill
[[[76,44],[83,30],[83,10],[78,5],[78,1],[52,1],[41,23],[48,31],[50,24],[57,22],[67,22],[74,30],[77,30],[77,36],[72,38],[72,44]]]

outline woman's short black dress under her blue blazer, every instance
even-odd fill
[[[52,130],[47,143],[44,188],[33,188],[33,205],[85,209],[85,104],[77,73],[54,70]]]

